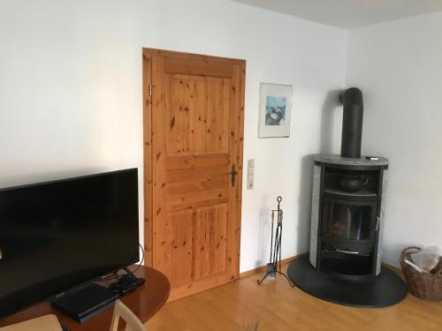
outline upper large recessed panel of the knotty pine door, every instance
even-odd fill
[[[229,80],[166,75],[166,85],[168,155],[227,153]]]

